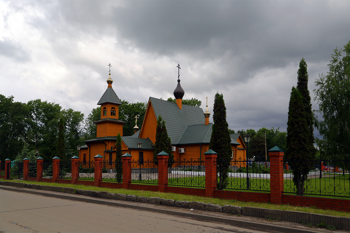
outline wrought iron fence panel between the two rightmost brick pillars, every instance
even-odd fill
[[[217,189],[270,191],[269,161],[218,160]],[[223,174],[223,175],[221,175]]]

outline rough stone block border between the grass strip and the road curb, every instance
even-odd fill
[[[212,211],[212,212],[224,212],[224,213],[231,213],[231,214],[259,217],[259,218],[272,218],[272,219],[279,219],[283,221],[289,221],[293,223],[304,223],[304,224],[311,223],[312,225],[317,225],[323,222],[326,225],[334,226],[341,230],[350,230],[350,218],[329,216],[329,215],[323,215],[323,214],[289,211],[289,210],[272,210],[272,209],[249,207],[249,206],[245,206],[245,207],[233,206],[233,205],[221,206],[218,204],[204,203],[204,202],[174,201],[173,199],[164,199],[159,197],[143,197],[143,196],[136,196],[136,195],[118,194],[118,193],[106,192],[106,191],[73,189],[73,188],[65,188],[65,187],[57,187],[57,186],[49,186],[49,185],[19,183],[19,182],[12,182],[12,181],[0,181],[0,185],[8,185],[8,186],[14,186],[19,188],[29,188],[29,189],[54,191],[54,192],[65,192],[69,194],[80,194],[84,196],[99,197],[99,198],[105,198],[105,199],[175,206],[175,207],[181,207],[181,208],[205,210],[205,211]]]

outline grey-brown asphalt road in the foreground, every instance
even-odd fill
[[[0,190],[0,224],[0,233],[276,232],[8,190]]]

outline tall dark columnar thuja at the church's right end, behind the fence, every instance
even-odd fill
[[[217,153],[217,171],[219,173],[217,188],[224,189],[228,183],[232,148],[229,124],[226,121],[226,107],[223,94],[215,94],[213,112],[214,125],[212,126],[209,149]]]

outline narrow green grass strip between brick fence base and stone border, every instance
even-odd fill
[[[298,207],[298,206],[291,206],[291,205],[276,205],[276,204],[270,204],[270,203],[241,202],[236,200],[226,200],[226,199],[219,199],[219,198],[174,194],[171,192],[151,192],[151,191],[131,190],[131,189],[111,189],[111,188],[102,188],[102,187],[96,187],[96,186],[77,185],[77,184],[59,184],[59,183],[46,183],[46,182],[22,181],[22,180],[8,180],[8,181],[21,182],[21,183],[27,183],[27,184],[67,187],[67,188],[83,189],[83,190],[107,191],[107,192],[114,192],[114,193],[120,193],[120,194],[126,194],[126,195],[131,194],[136,196],[144,196],[144,197],[160,197],[165,199],[174,199],[175,201],[196,201],[196,202],[219,204],[222,206],[223,205],[237,205],[242,207],[251,206],[251,207],[260,207],[260,208],[267,208],[267,209],[275,209],[275,210],[301,211],[301,212],[326,214],[326,215],[339,216],[339,217],[350,217],[349,212],[342,212],[342,211],[335,211],[335,210],[322,210],[322,209],[316,209],[315,207]]]

